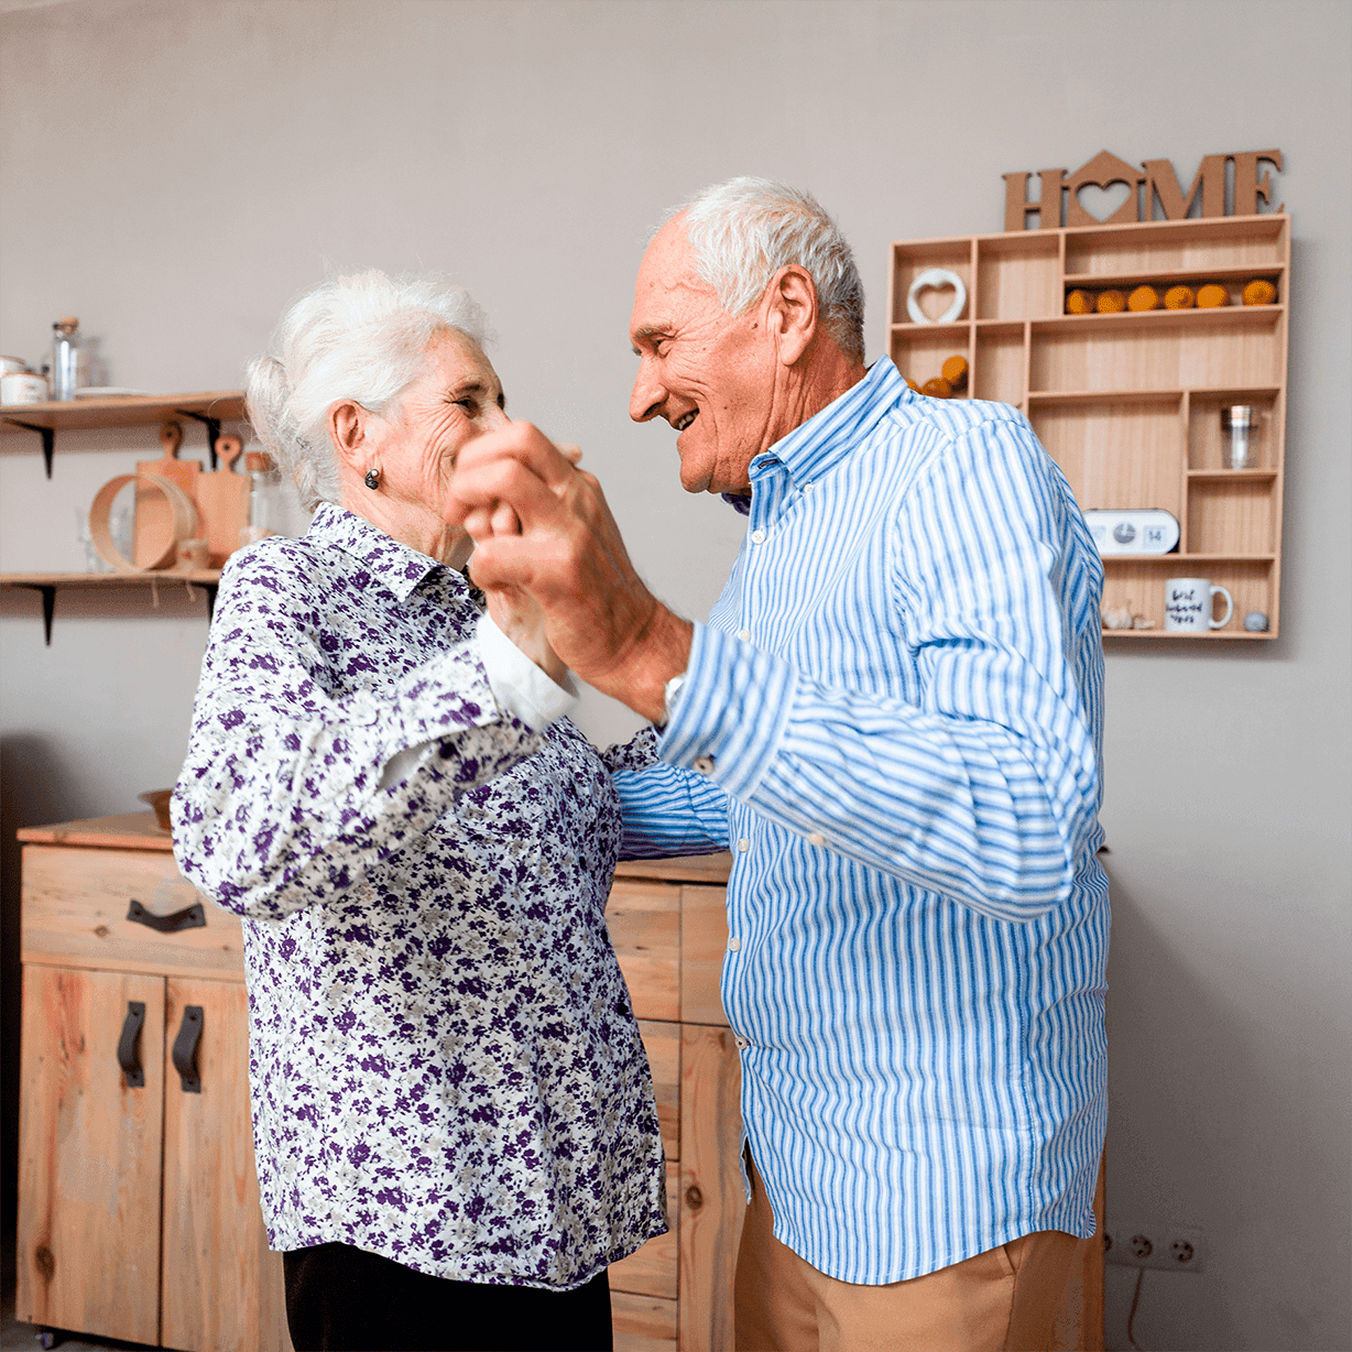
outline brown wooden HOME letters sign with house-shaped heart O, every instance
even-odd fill
[[[1234,165],[1234,187],[1230,192],[1230,211],[1226,212],[1228,165]],[[1201,201],[1203,216],[1256,216],[1259,199],[1272,206],[1272,174],[1263,165],[1282,170],[1280,150],[1230,150],[1221,155],[1203,155],[1184,197],[1174,165],[1168,160],[1142,160],[1133,165],[1111,151],[1101,150],[1072,174],[1064,169],[1042,169],[1037,177],[1041,193],[1029,199],[1032,173],[1007,173],[1005,178],[1005,228],[1028,230],[1028,218],[1037,216],[1038,230],[1057,230],[1064,226],[1125,226],[1155,219],[1159,201],[1165,220],[1183,220]],[[1099,218],[1080,201],[1084,188],[1109,189],[1125,184],[1126,200],[1110,216]],[[1055,204],[1055,210],[1046,210]],[[1276,208],[1279,212],[1284,207]]]

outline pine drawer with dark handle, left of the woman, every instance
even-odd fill
[[[127,919],[132,900],[151,915],[201,903],[206,926],[161,933]],[[162,850],[26,845],[23,961],[243,980],[239,917],[187,883]]]

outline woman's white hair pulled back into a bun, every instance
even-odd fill
[[[426,369],[429,345],[450,329],[480,347],[488,338],[462,287],[375,269],[322,281],[281,316],[266,354],[249,362],[249,420],[307,511],[339,499],[330,404],[352,399],[391,416]]]

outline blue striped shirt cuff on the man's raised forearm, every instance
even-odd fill
[[[698,771],[745,802],[779,752],[796,692],[788,662],[696,623],[658,758]]]

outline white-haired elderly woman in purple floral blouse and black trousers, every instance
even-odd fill
[[[285,315],[249,414],[318,510],[227,564],[174,790],[184,876],[243,917],[300,1349],[608,1348],[606,1265],[665,1229],[610,775],[443,519],[507,423],[481,335],[462,291],[376,272]]]

